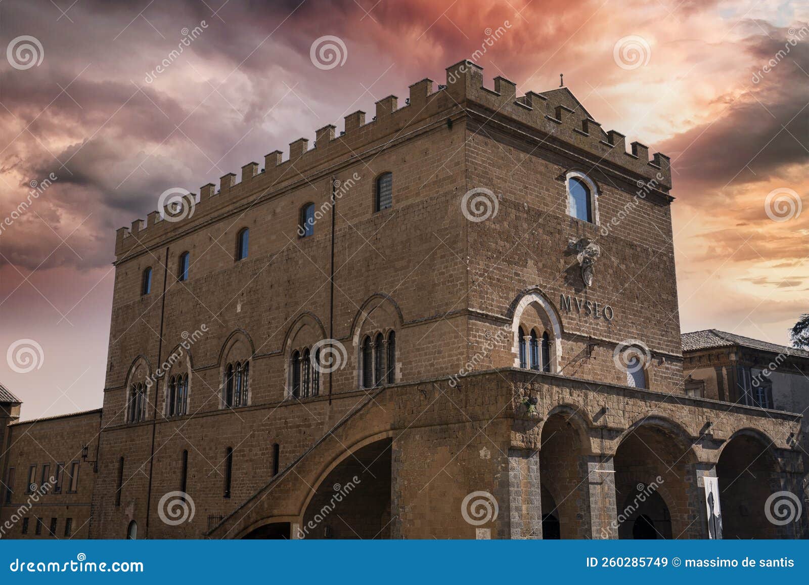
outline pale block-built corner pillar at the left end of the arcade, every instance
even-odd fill
[[[540,452],[510,448],[508,466],[510,537],[542,538]]]

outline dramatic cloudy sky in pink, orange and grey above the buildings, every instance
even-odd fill
[[[500,27],[487,84],[545,91],[564,73],[604,129],[671,156],[681,330],[786,343],[809,311],[807,21],[807,4],[767,0],[6,0],[0,350],[42,352],[27,373],[0,359],[0,383],[23,418],[100,406],[117,227],[169,187],[444,83]],[[345,63],[324,70],[310,49],[327,35]]]

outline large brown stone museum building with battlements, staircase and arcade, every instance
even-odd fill
[[[90,536],[704,538],[717,476],[726,537],[800,534],[801,416],[686,394],[670,189],[461,61],[167,190],[116,238]]]

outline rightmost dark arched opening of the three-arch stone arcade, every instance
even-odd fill
[[[770,447],[752,434],[736,435],[722,449],[716,472],[723,538],[775,538],[767,498],[779,490],[779,465]]]

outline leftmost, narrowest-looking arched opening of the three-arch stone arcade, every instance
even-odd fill
[[[540,495],[542,537],[587,538],[590,515],[587,470],[582,460],[582,439],[570,415],[552,414],[542,427],[540,443]],[[546,530],[549,534],[545,534]]]

